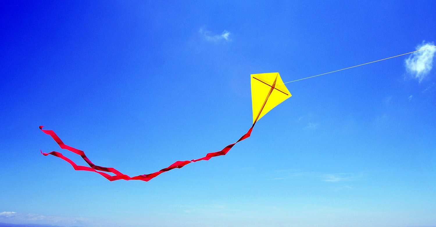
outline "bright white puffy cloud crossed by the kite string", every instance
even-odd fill
[[[416,50],[422,50],[429,47],[434,47],[434,43],[425,43],[416,47]],[[405,66],[409,73],[421,82],[429,74],[430,70],[433,68],[433,57],[436,52],[435,48],[430,48],[427,50],[422,50],[419,52],[412,53],[409,58],[405,60]]]

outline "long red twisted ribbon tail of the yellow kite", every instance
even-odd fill
[[[42,150],[41,150],[41,154],[43,154],[44,156],[47,156],[47,155],[51,154],[53,156],[59,157],[62,160],[65,160],[66,162],[71,164],[72,167],[75,170],[84,170],[84,171],[95,172],[95,173],[98,173],[98,174],[102,175],[103,177],[105,177],[106,179],[108,179],[110,181],[121,180],[121,179],[123,179],[123,180],[143,180],[143,181],[149,181],[149,180],[153,179],[154,177],[157,177],[161,173],[170,171],[170,170],[175,169],[175,168],[179,168],[180,169],[181,167],[184,167],[185,165],[190,164],[191,162],[197,162],[197,161],[200,161],[200,160],[209,160],[212,157],[217,157],[217,156],[221,156],[221,155],[227,154],[227,152],[230,149],[232,149],[232,147],[235,146],[235,144],[237,144],[238,142],[240,142],[242,140],[245,140],[246,138],[250,137],[254,125],[255,125],[255,123],[248,130],[248,132],[246,134],[244,134],[238,141],[236,141],[233,144],[228,145],[227,147],[224,147],[224,149],[222,149],[220,151],[208,153],[208,154],[206,154],[205,157],[202,157],[202,158],[199,158],[199,159],[193,159],[193,160],[190,160],[190,161],[189,160],[186,160],[186,161],[177,161],[177,162],[171,164],[169,167],[164,168],[162,170],[159,170],[157,172],[154,172],[152,174],[143,174],[143,175],[139,175],[139,176],[135,176],[135,177],[129,177],[128,175],[121,173],[120,171],[116,170],[115,168],[97,166],[97,165],[93,164],[91,162],[91,160],[89,160],[88,157],[86,157],[85,152],[83,152],[82,150],[78,150],[78,149],[76,149],[74,147],[70,147],[68,145],[65,145],[64,142],[62,142],[62,140],[58,137],[58,135],[56,135],[54,133],[53,130],[43,130],[42,128],[44,126],[40,126],[39,129],[41,131],[43,131],[45,134],[50,135],[54,139],[54,141],[56,141],[56,143],[58,143],[59,147],[61,147],[62,149],[66,149],[66,150],[69,150],[69,151],[71,151],[71,152],[73,152],[75,154],[80,155],[82,157],[82,159],[85,160],[85,162],[89,165],[89,167],[79,166],[79,165],[75,164],[72,160],[68,159],[67,157],[65,157],[64,155],[62,155],[61,153],[56,152],[56,151],[52,151],[50,153],[43,153]],[[111,176],[109,174],[106,174],[106,173],[103,173],[103,172],[100,172],[100,171],[109,172],[109,173],[115,174],[115,176]]]

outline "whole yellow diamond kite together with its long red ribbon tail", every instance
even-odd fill
[[[272,108],[276,107],[280,103],[282,103],[287,98],[291,97],[291,94],[289,90],[286,88],[285,84],[283,83],[282,79],[280,78],[279,73],[260,73],[260,74],[252,74],[251,75],[251,95],[252,95],[252,108],[253,108],[253,125],[248,130],[246,134],[244,134],[238,141],[236,141],[233,144],[228,145],[224,149],[212,152],[206,154],[205,157],[199,158],[199,159],[193,159],[193,160],[186,160],[186,161],[177,161],[173,164],[171,164],[169,167],[161,169],[157,172],[154,172],[152,174],[143,174],[138,175],[135,177],[129,177],[126,174],[121,173],[120,171],[116,170],[115,168],[111,167],[101,167],[93,164],[91,160],[89,160],[88,157],[86,157],[85,152],[82,150],[78,150],[74,147],[70,147],[68,145],[65,145],[62,140],[54,133],[53,130],[44,130],[42,129],[44,126],[40,126],[39,129],[44,132],[47,135],[50,135],[56,143],[58,143],[59,147],[61,149],[69,150],[75,154],[78,154],[82,157],[83,160],[89,165],[87,166],[79,166],[75,164],[71,159],[65,157],[61,153],[57,151],[52,151],[50,153],[43,153],[41,150],[41,154],[44,156],[53,155],[56,157],[59,157],[69,164],[72,165],[72,167],[75,170],[85,170],[85,171],[92,171],[95,173],[98,173],[105,177],[106,179],[113,181],[113,180],[143,180],[143,181],[149,181],[153,179],[154,177],[157,177],[159,174],[167,172],[169,170],[175,169],[175,168],[181,168],[184,167],[187,164],[190,164],[192,162],[198,162],[200,160],[209,160],[212,157],[217,157],[221,155],[225,155],[228,153],[230,149],[232,149],[235,144],[238,142],[245,140],[246,138],[250,137],[251,132],[253,130],[254,125],[256,122],[262,118],[266,113],[269,112],[269,110],[272,110]],[[112,173],[115,175],[110,175],[108,173]]]

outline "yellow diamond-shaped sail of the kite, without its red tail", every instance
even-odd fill
[[[251,74],[253,124],[291,96],[279,73]]]

